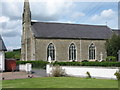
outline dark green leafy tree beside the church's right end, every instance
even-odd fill
[[[114,56],[118,58],[118,50],[120,50],[120,35],[113,34],[105,43],[107,56]]]

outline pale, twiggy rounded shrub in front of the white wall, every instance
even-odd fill
[[[52,69],[52,76],[54,77],[65,76],[65,70],[63,70],[59,65],[56,65]]]

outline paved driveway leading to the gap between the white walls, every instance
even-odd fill
[[[0,80],[24,79],[33,77],[46,77],[45,69],[32,69],[32,74],[26,72],[3,72],[0,73]]]

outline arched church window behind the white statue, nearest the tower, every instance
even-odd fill
[[[55,60],[55,48],[52,43],[50,43],[47,48],[47,59],[49,56],[51,57],[51,60]]]

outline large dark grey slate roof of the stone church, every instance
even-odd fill
[[[108,39],[112,30],[101,25],[32,22],[36,38]]]

